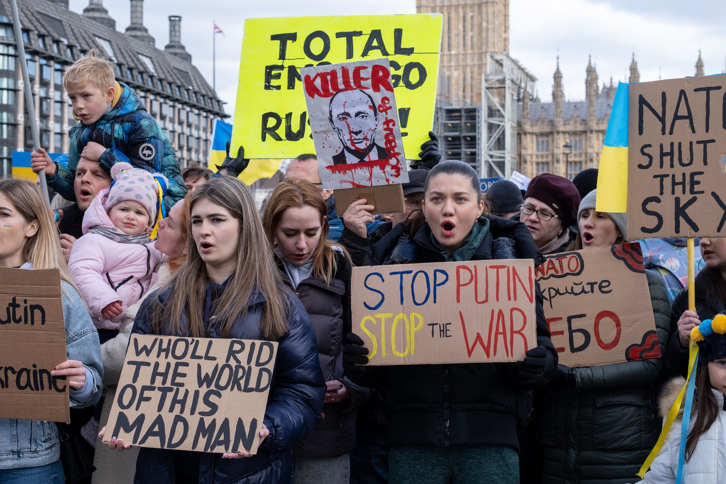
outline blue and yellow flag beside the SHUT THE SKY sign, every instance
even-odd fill
[[[626,212],[628,200],[628,83],[618,84],[597,173],[598,212]]]

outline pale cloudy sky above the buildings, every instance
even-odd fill
[[[88,0],[70,0],[82,12]],[[117,30],[129,25],[129,1],[105,0]],[[212,83],[212,26],[217,36],[216,88],[234,111],[245,19],[298,15],[415,13],[415,0],[146,0],[144,25],[160,49],[168,43],[168,15],[181,15],[181,43]],[[698,49],[706,74],[726,65],[726,1],[717,0],[510,0],[510,55],[538,81],[539,97],[552,98],[555,57],[566,99],[584,99],[587,56],[597,65],[600,86],[627,80],[632,52],[641,81],[693,75]]]

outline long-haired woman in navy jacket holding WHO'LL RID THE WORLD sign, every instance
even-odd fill
[[[325,394],[310,320],[282,282],[245,184],[225,176],[197,186],[189,216],[187,260],[142,303],[132,333],[277,341],[274,377],[257,454],[142,448],[135,482],[289,483],[293,446]]]

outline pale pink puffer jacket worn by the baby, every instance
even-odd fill
[[[123,244],[100,234],[92,226],[113,228],[104,208],[109,189],[101,190],[83,215],[83,237],[73,244],[68,268],[97,328],[118,329],[123,315],[105,319],[101,311],[121,300],[123,309],[136,303],[152,286],[154,268],[164,255],[148,244]]]

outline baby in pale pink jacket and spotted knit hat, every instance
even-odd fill
[[[68,268],[96,327],[118,330],[121,313],[149,290],[164,257],[149,237],[160,206],[154,176],[161,175],[116,163],[111,176],[113,184],[83,215],[83,237],[73,244]]]

